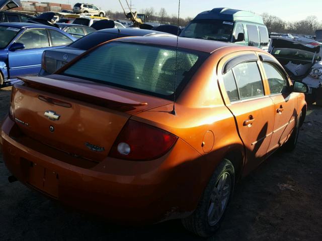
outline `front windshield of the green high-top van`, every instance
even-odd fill
[[[180,37],[230,42],[232,31],[233,22],[223,20],[193,20],[182,31]]]

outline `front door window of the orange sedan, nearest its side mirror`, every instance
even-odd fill
[[[276,65],[263,63],[264,70],[267,76],[271,94],[285,92],[287,88],[287,78]]]

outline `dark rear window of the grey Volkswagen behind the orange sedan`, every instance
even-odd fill
[[[120,36],[120,37],[124,37],[124,36]],[[101,43],[104,43],[106,41],[116,39],[116,38],[118,38],[117,34],[95,32],[85,36],[82,39],[79,39],[71,43],[69,47],[72,47],[75,49],[89,50],[95,47],[96,45],[99,45]]]

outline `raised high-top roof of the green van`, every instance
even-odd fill
[[[215,8],[198,14],[194,20],[246,21],[264,25],[263,18],[257,14],[228,8]]]

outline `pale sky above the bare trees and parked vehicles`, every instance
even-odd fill
[[[26,1],[26,0],[23,0]],[[48,1],[50,2],[50,1]],[[72,6],[79,2],[73,0],[52,0],[56,3],[69,3]],[[87,0],[87,3],[93,3],[104,10],[122,11],[118,0]],[[121,0],[124,5],[125,0]],[[130,0],[128,0],[130,2]],[[153,7],[156,12],[164,7],[167,13],[178,13],[179,0],[132,0],[132,5],[137,11]],[[322,21],[322,1],[321,0],[181,0],[181,13],[185,17],[195,17],[198,13],[213,8],[231,8],[246,11],[252,11],[258,14],[264,12],[280,17],[285,21],[298,21],[305,19],[309,15],[315,15]]]

